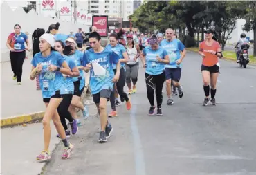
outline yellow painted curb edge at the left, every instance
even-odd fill
[[[1,127],[10,127],[14,125],[21,125],[27,122],[38,121],[42,120],[43,117],[44,111],[40,111],[37,113],[30,113],[24,116],[15,116],[6,119],[1,119]]]

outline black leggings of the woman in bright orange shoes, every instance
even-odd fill
[[[116,74],[116,70],[113,70],[114,73]],[[118,82],[116,82],[116,89],[118,90],[118,94],[120,95],[121,101],[125,100],[126,102],[129,101],[127,93],[124,91],[124,86],[125,86],[125,68],[120,69],[120,77]],[[115,86],[113,87],[115,88]],[[110,103],[111,103],[111,108],[116,111],[116,106],[115,106],[115,93],[112,91],[110,95]]]

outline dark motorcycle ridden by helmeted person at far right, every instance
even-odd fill
[[[249,52],[248,52],[250,45],[247,43],[244,43],[240,47],[241,47],[240,52],[236,50],[236,53],[239,56],[239,64],[240,64],[240,67],[246,68],[247,64],[250,62]]]

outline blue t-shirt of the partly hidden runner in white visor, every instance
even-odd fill
[[[68,56],[68,57],[70,57],[75,62],[75,65],[77,67],[82,66],[82,60],[83,60],[83,57],[84,57],[84,53],[82,53],[80,50],[75,50],[75,53],[73,55]],[[81,90],[85,85],[85,79],[84,79],[84,71],[79,70],[79,72],[80,72],[80,76],[79,77],[73,77],[73,82],[77,82],[78,80],[80,80],[79,89]]]

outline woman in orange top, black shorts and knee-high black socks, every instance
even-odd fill
[[[217,78],[219,76],[219,60],[222,57],[221,46],[217,42],[217,36],[213,29],[209,28],[205,31],[205,40],[201,42],[199,54],[203,57],[203,63],[201,71],[203,75],[203,90],[205,93],[205,99],[203,106],[207,106],[208,102],[212,102],[212,105],[216,105],[215,94]],[[210,86],[211,89],[210,89]],[[211,94],[212,100],[209,95]]]

